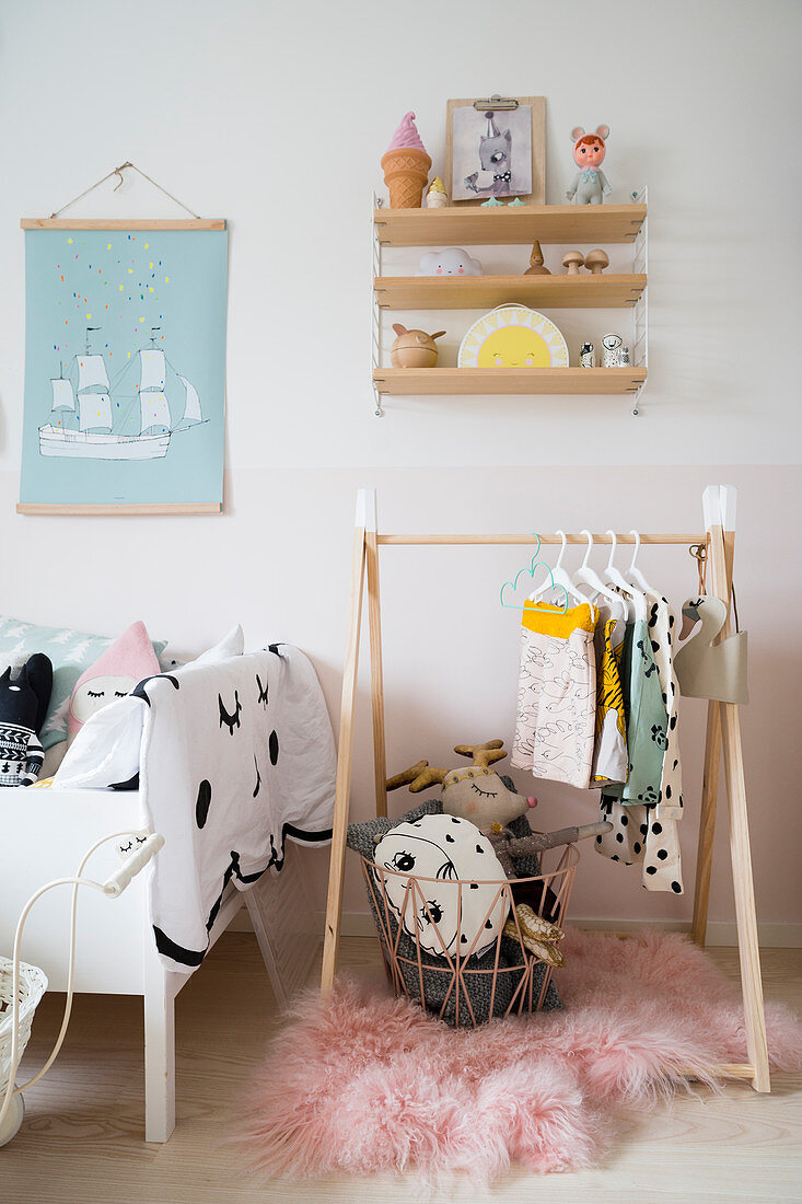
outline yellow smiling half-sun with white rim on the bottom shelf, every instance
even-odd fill
[[[473,323],[460,344],[461,368],[566,368],[568,348],[554,323],[524,305],[502,305]]]

